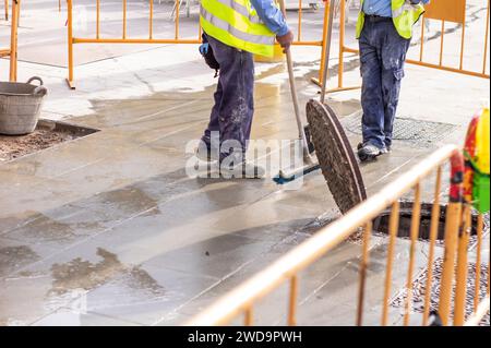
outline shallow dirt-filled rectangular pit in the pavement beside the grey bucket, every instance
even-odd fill
[[[39,120],[36,130],[31,134],[0,134],[0,164],[96,132],[96,129]]]

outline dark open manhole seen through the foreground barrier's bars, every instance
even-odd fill
[[[410,238],[411,232],[411,219],[412,219],[412,207],[414,202],[400,202],[399,209],[399,228],[397,232],[397,237],[399,238]],[[421,220],[419,225],[419,239],[420,240],[430,240],[430,231],[431,231],[431,217],[432,217],[433,204],[431,203],[422,203],[421,204]],[[391,220],[391,211],[387,209],[379,217],[373,220],[373,230],[379,233],[388,235],[390,233],[390,220]],[[446,221],[446,205],[440,206],[440,216],[439,216],[439,229],[436,239],[442,241],[445,238],[445,221]],[[477,223],[478,223],[478,213],[472,212],[472,229],[471,236],[477,235]],[[484,231],[489,230],[489,216],[484,217]]]

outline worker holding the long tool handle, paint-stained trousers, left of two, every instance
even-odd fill
[[[253,56],[273,57],[275,39],[287,50],[294,34],[274,0],[201,0],[206,62],[219,70],[211,120],[197,157],[218,160],[226,177],[261,178],[246,161],[254,112]]]

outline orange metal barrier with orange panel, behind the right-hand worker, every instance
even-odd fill
[[[483,0],[486,1],[486,0]],[[452,2],[452,3],[448,3]],[[420,67],[432,68],[454,73],[460,73],[470,76],[490,79],[489,68],[488,68],[488,40],[489,40],[489,0],[487,7],[487,20],[486,20],[486,32],[483,36],[483,46],[482,46],[482,64],[476,67],[476,69],[464,68],[464,52],[466,49],[466,21],[468,20],[467,13],[467,0],[432,0],[430,4],[426,5],[426,13],[421,16],[421,33],[420,33],[420,48],[419,48],[419,58],[418,59],[408,59],[407,62]],[[356,53],[359,55],[359,50],[357,48],[347,47],[346,46],[346,3],[345,1],[340,1],[340,17],[339,17],[339,64],[338,64],[338,81],[337,87],[332,88],[328,92],[339,92],[339,91],[348,91],[356,89],[359,86],[345,86],[344,85],[344,59],[345,53]],[[438,63],[430,62],[426,60],[424,57],[424,48],[426,44],[426,20],[436,20],[441,22],[441,34],[440,34],[440,53],[438,57]],[[459,44],[459,61],[458,64],[452,67],[450,64],[444,63],[444,43],[445,43],[445,23],[453,22],[457,23],[460,26],[460,44]],[[414,37],[417,37],[418,34],[415,31]]]

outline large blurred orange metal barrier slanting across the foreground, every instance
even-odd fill
[[[288,301],[288,325],[297,324],[297,302],[298,302],[298,274],[328,254],[335,247],[347,240],[354,232],[363,228],[362,256],[359,266],[359,290],[358,311],[354,313],[355,323],[363,324],[366,280],[367,269],[370,263],[370,239],[373,230],[373,219],[376,218],[387,207],[391,207],[390,215],[390,241],[387,250],[387,263],[385,271],[385,288],[382,303],[381,324],[388,324],[388,309],[392,296],[393,264],[395,256],[395,241],[399,229],[399,200],[402,196],[412,191],[415,193],[412,220],[410,227],[410,257],[407,265],[407,284],[404,311],[404,324],[410,324],[412,308],[412,281],[415,273],[416,243],[419,236],[420,212],[421,212],[421,181],[430,175],[435,173],[434,204],[431,216],[430,229],[430,252],[428,257],[427,289],[431,289],[433,283],[433,263],[435,255],[435,242],[440,221],[440,195],[443,179],[443,166],[451,163],[452,175],[450,178],[451,192],[450,203],[446,208],[445,221],[445,259],[443,264],[443,276],[440,284],[439,313],[444,325],[451,324],[451,309],[454,308],[455,325],[471,325],[479,323],[489,311],[489,275],[488,295],[479,302],[479,292],[476,296],[475,313],[464,322],[465,300],[467,286],[467,243],[470,232],[470,207],[463,203],[463,170],[464,158],[460,148],[454,145],[446,145],[412,169],[386,185],[378,194],[361,203],[347,215],[330,224],[318,231],[313,237],[296,247],[294,250],[277,260],[271,266],[253,276],[241,286],[224,296],[215,304],[185,323],[189,326],[208,326],[229,324],[237,316],[244,315],[244,324],[253,324],[253,308],[267,295],[277,289],[280,285],[289,283]],[[464,213],[463,213],[464,212]],[[482,216],[479,217],[478,244],[482,244]],[[481,247],[478,247],[481,252]],[[478,262],[481,262],[480,255]],[[456,266],[455,266],[456,263]],[[455,272],[457,271],[457,272]],[[456,276],[456,296],[452,301],[454,280]],[[479,274],[479,273],[478,273]],[[479,277],[479,276],[478,276]],[[477,279],[480,281],[480,279]],[[479,286],[477,286],[479,291]],[[429,324],[431,290],[424,295],[424,313],[422,325]]]

